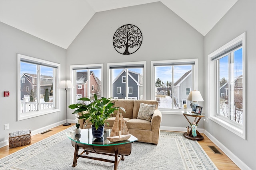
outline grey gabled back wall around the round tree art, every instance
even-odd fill
[[[115,31],[122,25],[133,24],[142,31],[142,45],[131,55],[118,53],[112,39]],[[161,2],[120,8],[94,14],[92,19],[67,49],[67,67],[73,64],[104,63],[104,80],[106,64],[119,62],[146,61],[146,99],[150,99],[150,62],[156,60],[198,58],[200,67],[199,82],[204,80],[203,72],[204,37],[182,20]],[[204,85],[199,83],[199,90]],[[106,96],[107,81],[104,81]],[[70,111],[71,113],[71,111]],[[72,115],[69,114],[69,118]],[[162,126],[184,127],[188,122],[182,113],[163,115]],[[203,127],[202,124],[199,127]]]

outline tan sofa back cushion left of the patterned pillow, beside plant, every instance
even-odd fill
[[[114,107],[123,107],[125,109],[125,113],[122,109],[120,109],[123,117],[132,119],[133,104],[134,100],[118,99],[116,100]],[[117,111],[115,111],[114,113],[115,114],[113,115],[113,117],[116,117]]]

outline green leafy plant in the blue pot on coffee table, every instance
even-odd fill
[[[85,102],[90,102],[90,104],[72,104],[68,107],[70,109],[76,109],[72,114],[81,113],[81,115],[78,117],[79,119],[90,121],[92,125],[98,129],[98,127],[103,126],[105,122],[108,125],[107,119],[111,117],[111,114],[114,113],[115,110],[118,110],[119,108],[124,110],[122,107],[113,107],[114,103],[111,103],[110,99],[111,98],[107,99],[104,97],[98,98],[97,95],[94,94],[94,99],[78,99]]]

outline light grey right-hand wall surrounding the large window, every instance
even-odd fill
[[[222,145],[236,155],[250,169],[256,169],[255,133],[255,84],[256,84],[256,1],[238,0],[228,13],[214,26],[204,38],[204,72],[208,72],[208,55],[225,45],[238,35],[246,32],[246,140],[234,135],[224,127],[209,120],[206,130]],[[208,110],[208,79],[205,74],[205,102]]]

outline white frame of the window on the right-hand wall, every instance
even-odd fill
[[[246,87],[246,33],[242,33],[232,41],[226,43],[213,53],[208,55],[208,85],[209,89],[214,90],[208,90],[208,113],[209,113],[209,119],[214,121],[215,123],[218,123],[222,127],[228,129],[232,133],[236,134],[237,136],[241,137],[242,139],[246,139],[246,88],[243,88],[243,123],[242,125],[237,125],[236,123],[232,123],[231,121],[227,121],[222,119],[220,116],[216,115],[216,106],[217,106],[217,96],[219,94],[216,94],[216,86],[218,86],[217,80],[217,66],[216,62],[212,61],[212,57],[217,56],[218,54],[222,53],[223,51],[226,51],[227,49],[233,47],[234,45],[238,44],[240,41],[242,41],[242,55],[243,55],[243,86]],[[219,93],[219,92],[218,92]],[[228,94],[227,94],[228,95]]]

